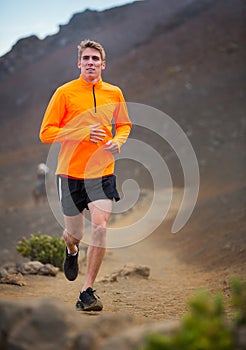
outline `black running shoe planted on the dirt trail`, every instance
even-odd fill
[[[95,290],[91,287],[81,292],[76,303],[76,308],[83,311],[101,311],[103,304],[100,298],[94,294]]]

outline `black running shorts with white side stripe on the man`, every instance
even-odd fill
[[[78,215],[88,209],[88,203],[98,199],[114,199],[116,202],[120,200],[115,175],[89,180],[58,175],[57,189],[62,211],[66,216]]]

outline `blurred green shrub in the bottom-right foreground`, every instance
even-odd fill
[[[139,350],[235,350],[234,331],[246,324],[246,280],[234,277],[231,291],[235,314],[230,326],[225,321],[222,296],[200,291],[190,299],[178,332],[150,334]]]

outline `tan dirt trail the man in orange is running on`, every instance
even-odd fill
[[[169,220],[173,219],[179,200],[180,193],[176,193]],[[121,219],[121,224],[132,222],[133,217],[139,215],[139,211],[144,212],[146,209],[144,203],[147,202],[143,201],[136,206],[131,214]],[[227,296],[225,281],[228,281],[235,272],[233,267],[208,271],[201,266],[188,265],[179,260],[175,251],[165,245],[165,241],[171,235],[168,233],[169,224],[167,220],[166,224],[162,224],[154,233],[137,244],[107,250],[94,286],[103,301],[103,312],[127,312],[133,316],[137,324],[140,324],[149,320],[180,318],[186,311],[187,298],[201,287],[213,293],[222,291]],[[119,278],[117,282],[100,281],[102,277],[121,269],[127,263],[147,265],[150,268],[149,278],[137,276]],[[24,287],[1,284],[0,296],[15,299],[48,296],[74,305],[82,285],[84,271],[85,260],[81,252],[80,274],[76,281],[67,281],[61,272],[56,277],[29,275],[25,277],[27,285]]]

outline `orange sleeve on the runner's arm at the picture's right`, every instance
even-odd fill
[[[113,141],[120,147],[126,142],[132,127],[124,96],[119,90],[119,103],[114,112],[115,136]]]

